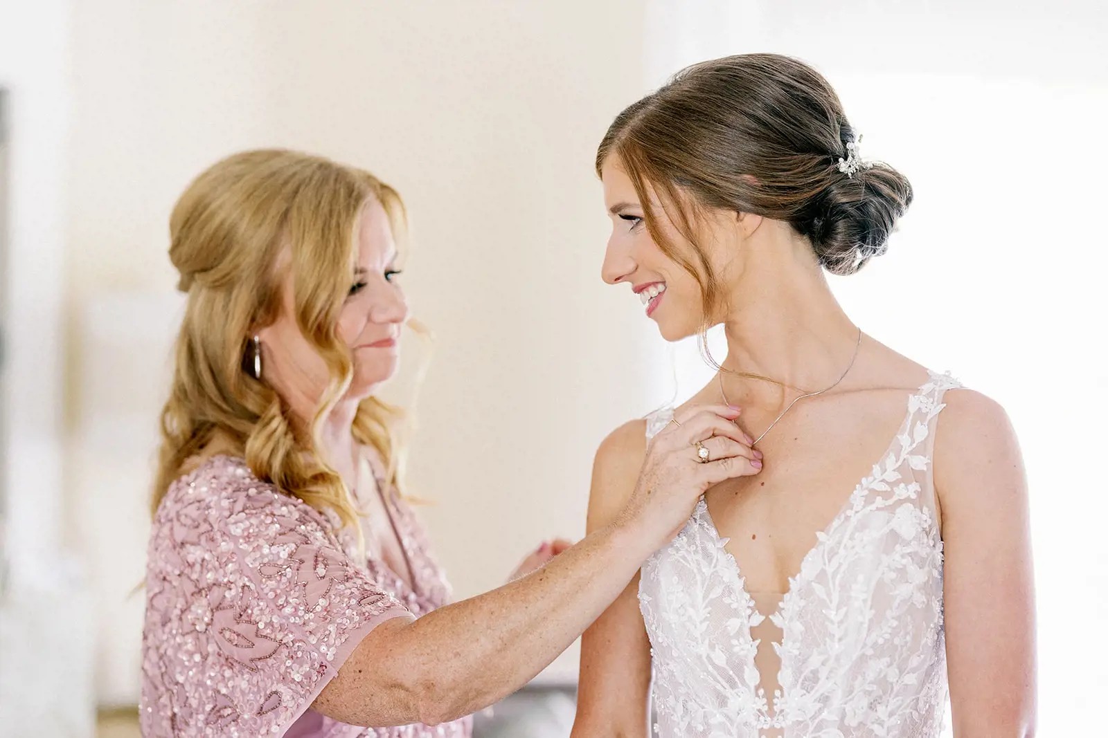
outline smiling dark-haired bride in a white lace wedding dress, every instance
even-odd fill
[[[945,135],[936,122],[936,150]],[[866,335],[824,279],[883,253],[912,200],[858,139],[818,72],[749,54],[686,69],[601,143],[605,281],[667,341],[725,326],[727,358],[687,405],[738,406],[765,467],[709,489],[585,633],[575,738],[936,736],[947,695],[958,738],[1034,732],[1008,419]],[[903,304],[934,288],[903,284]],[[603,443],[589,530],[673,417]]]

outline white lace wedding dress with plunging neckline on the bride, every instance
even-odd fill
[[[932,373],[909,396],[889,450],[815,534],[783,595],[747,591],[702,499],[645,563],[638,596],[659,736],[940,734],[943,543],[931,456],[943,393],[957,386]],[[670,417],[652,415],[647,436]]]

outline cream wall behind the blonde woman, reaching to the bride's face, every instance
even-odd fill
[[[435,502],[456,593],[495,586],[544,537],[581,536],[597,443],[668,391],[640,305],[598,277],[591,162],[643,92],[640,3],[100,0],[74,21],[66,459],[101,700],[136,695],[142,602],[125,596],[177,305],[166,220],[236,149],[358,164],[409,205],[402,279],[438,335],[410,478]]]

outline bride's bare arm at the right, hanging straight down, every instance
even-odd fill
[[[1027,485],[1004,409],[946,395],[935,437],[955,738],[1035,732],[1035,601]]]

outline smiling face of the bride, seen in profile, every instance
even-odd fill
[[[647,318],[658,324],[661,336],[667,341],[696,334],[705,323],[702,290],[697,279],[658,248],[646,228],[635,186],[617,159],[609,158],[604,164],[601,179],[604,183],[604,206],[612,218],[612,236],[602,269],[604,281],[608,284],[629,284],[637,298],[643,300]],[[697,250],[680,236],[656,198],[652,199],[650,208],[663,237],[679,248],[693,267],[702,273]],[[715,237],[718,233],[709,236],[706,239],[708,243],[720,243]],[[714,248],[711,252],[702,253],[715,273],[720,273],[715,263],[717,260],[724,261],[719,267],[726,271],[726,249]]]

